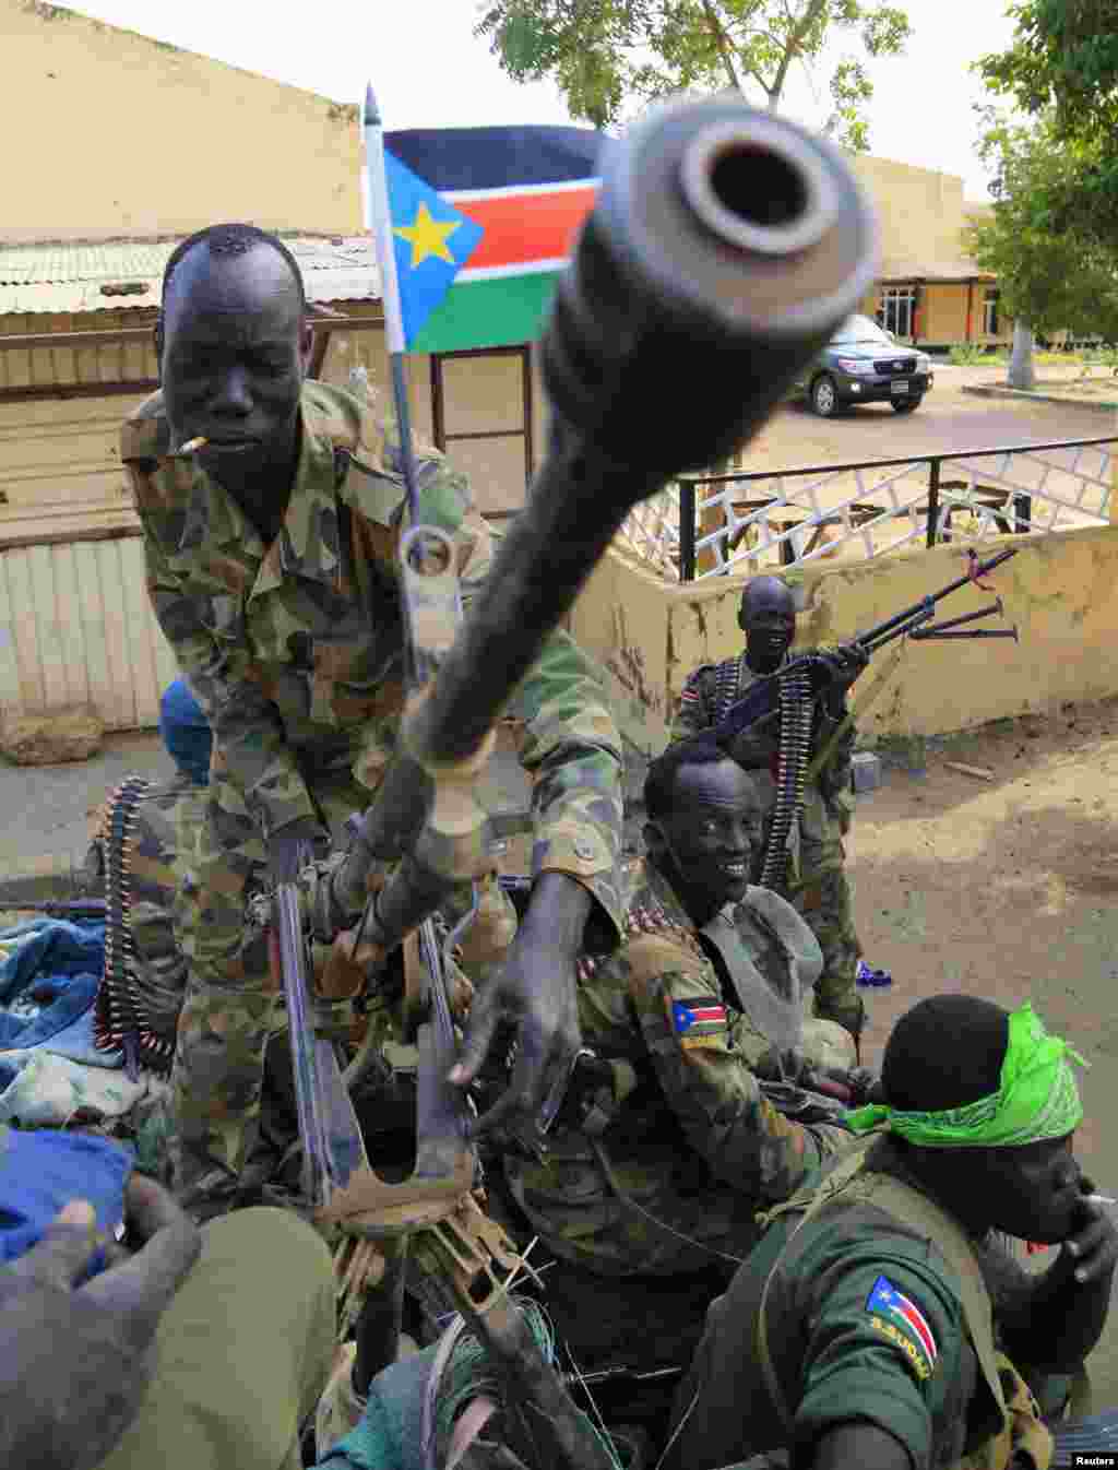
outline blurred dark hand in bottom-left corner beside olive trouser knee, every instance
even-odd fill
[[[73,1201],[0,1269],[0,1464],[93,1470],[135,1417],[165,1308],[201,1248],[170,1195],[140,1175],[125,1219],[144,1242],[75,1289],[100,1242]]]

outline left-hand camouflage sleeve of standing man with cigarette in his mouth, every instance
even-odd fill
[[[300,817],[314,817],[279,710],[256,682],[248,648],[213,637],[200,597],[191,595],[170,569],[148,516],[143,510],[140,514],[151,607],[210,722],[214,761],[223,764],[264,836]]]

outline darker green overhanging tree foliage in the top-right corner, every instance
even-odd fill
[[[1017,0],[1008,50],[984,56],[987,87],[1011,98],[1062,147],[1074,169],[1045,182],[1053,226],[1118,235],[1118,0]]]

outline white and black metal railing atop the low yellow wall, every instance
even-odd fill
[[[923,539],[1049,532],[1109,523],[1118,435],[1014,444],[895,460],[680,478],[626,519],[618,545],[680,582],[742,563],[805,566],[858,544],[879,557]],[[701,488],[714,488],[701,495]],[[892,537],[898,522],[906,522]],[[701,564],[704,563],[704,564]]]

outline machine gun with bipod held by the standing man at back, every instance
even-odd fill
[[[1005,551],[999,551],[998,556],[992,556],[989,562],[978,562],[965,576],[956,578],[953,582],[948,582],[937,592],[928,592],[927,597],[921,597],[918,601],[912,603],[909,607],[902,607],[899,613],[893,613],[892,617],[886,617],[880,623],[874,623],[864,634],[858,634],[851,642],[861,648],[862,653],[871,656],[877,653],[879,648],[884,648],[886,644],[893,642],[895,638],[911,637],[917,641],[928,638],[1014,638],[1017,639],[1017,629],[990,629],[990,628],[975,628],[961,631],[961,623],[973,623],[980,617],[989,617],[993,613],[1002,613],[1002,600],[998,598],[996,603],[990,603],[987,607],[978,609],[977,613],[965,613],[962,617],[952,617],[945,623],[933,623],[931,619],[936,614],[936,604],[952,592],[956,592],[961,587],[967,587],[970,582],[977,581],[977,578],[984,576],[992,572],[996,566],[1002,566],[1009,557],[1017,556],[1017,547],[1008,547]],[[776,710],[779,703],[780,681],[787,679],[789,675],[807,676],[811,684],[811,692],[815,698],[826,694],[832,682],[832,664],[824,654],[807,653],[801,654],[798,659],[790,659],[786,664],[770,673],[764,679],[758,679],[749,686],[749,692],[740,700],[730,706],[726,714],[713,726],[717,739],[733,739],[742,735],[751,725],[757,720],[764,719]]]

